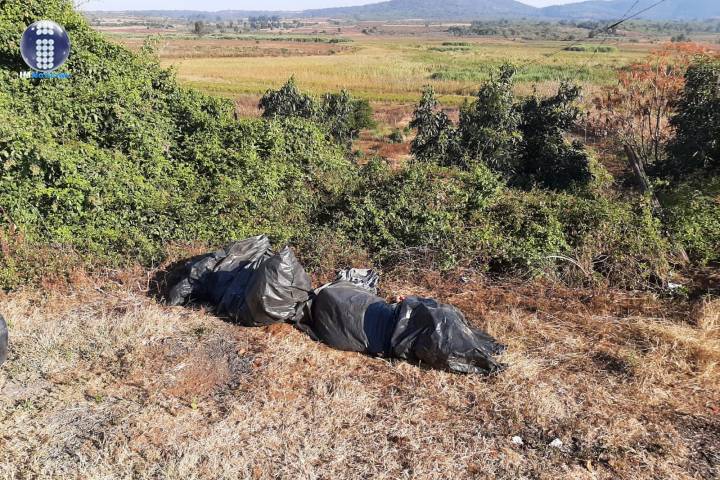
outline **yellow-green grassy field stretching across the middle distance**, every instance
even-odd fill
[[[137,46],[137,37],[118,37]],[[188,85],[226,97],[260,95],[294,75],[314,93],[346,88],[371,101],[415,102],[424,85],[459,105],[503,62],[519,67],[518,91],[549,92],[561,80],[588,91],[611,84],[615,72],[642,59],[654,44],[621,44],[609,52],[565,51],[567,42],[351,36],[352,43],[299,43],[253,39],[160,40],[163,64]],[[282,37],[281,37],[282,38]],[[587,46],[586,44],[583,44]]]

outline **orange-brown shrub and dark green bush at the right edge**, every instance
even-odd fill
[[[705,46],[666,46],[623,69],[590,117],[628,158],[638,190],[657,195],[656,215],[690,267],[720,261],[719,81]]]

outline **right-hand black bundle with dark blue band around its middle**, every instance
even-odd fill
[[[492,356],[505,347],[472,328],[457,308],[419,297],[389,304],[375,295],[376,281],[362,280],[377,276],[357,272],[341,272],[339,280],[320,288],[299,327],[338,350],[458,373],[491,374],[503,368]]]

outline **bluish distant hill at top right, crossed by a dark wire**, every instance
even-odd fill
[[[657,0],[640,0],[631,13],[639,12]],[[635,4],[635,0],[591,0],[556,5],[541,9],[546,17],[559,19],[620,19]],[[638,18],[651,20],[705,20],[720,18],[720,0],[666,0]]]

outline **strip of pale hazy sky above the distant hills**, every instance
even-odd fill
[[[544,7],[579,0],[520,0]],[[82,2],[81,2],[82,3]],[[304,10],[377,3],[372,0],[90,0],[85,10]]]

